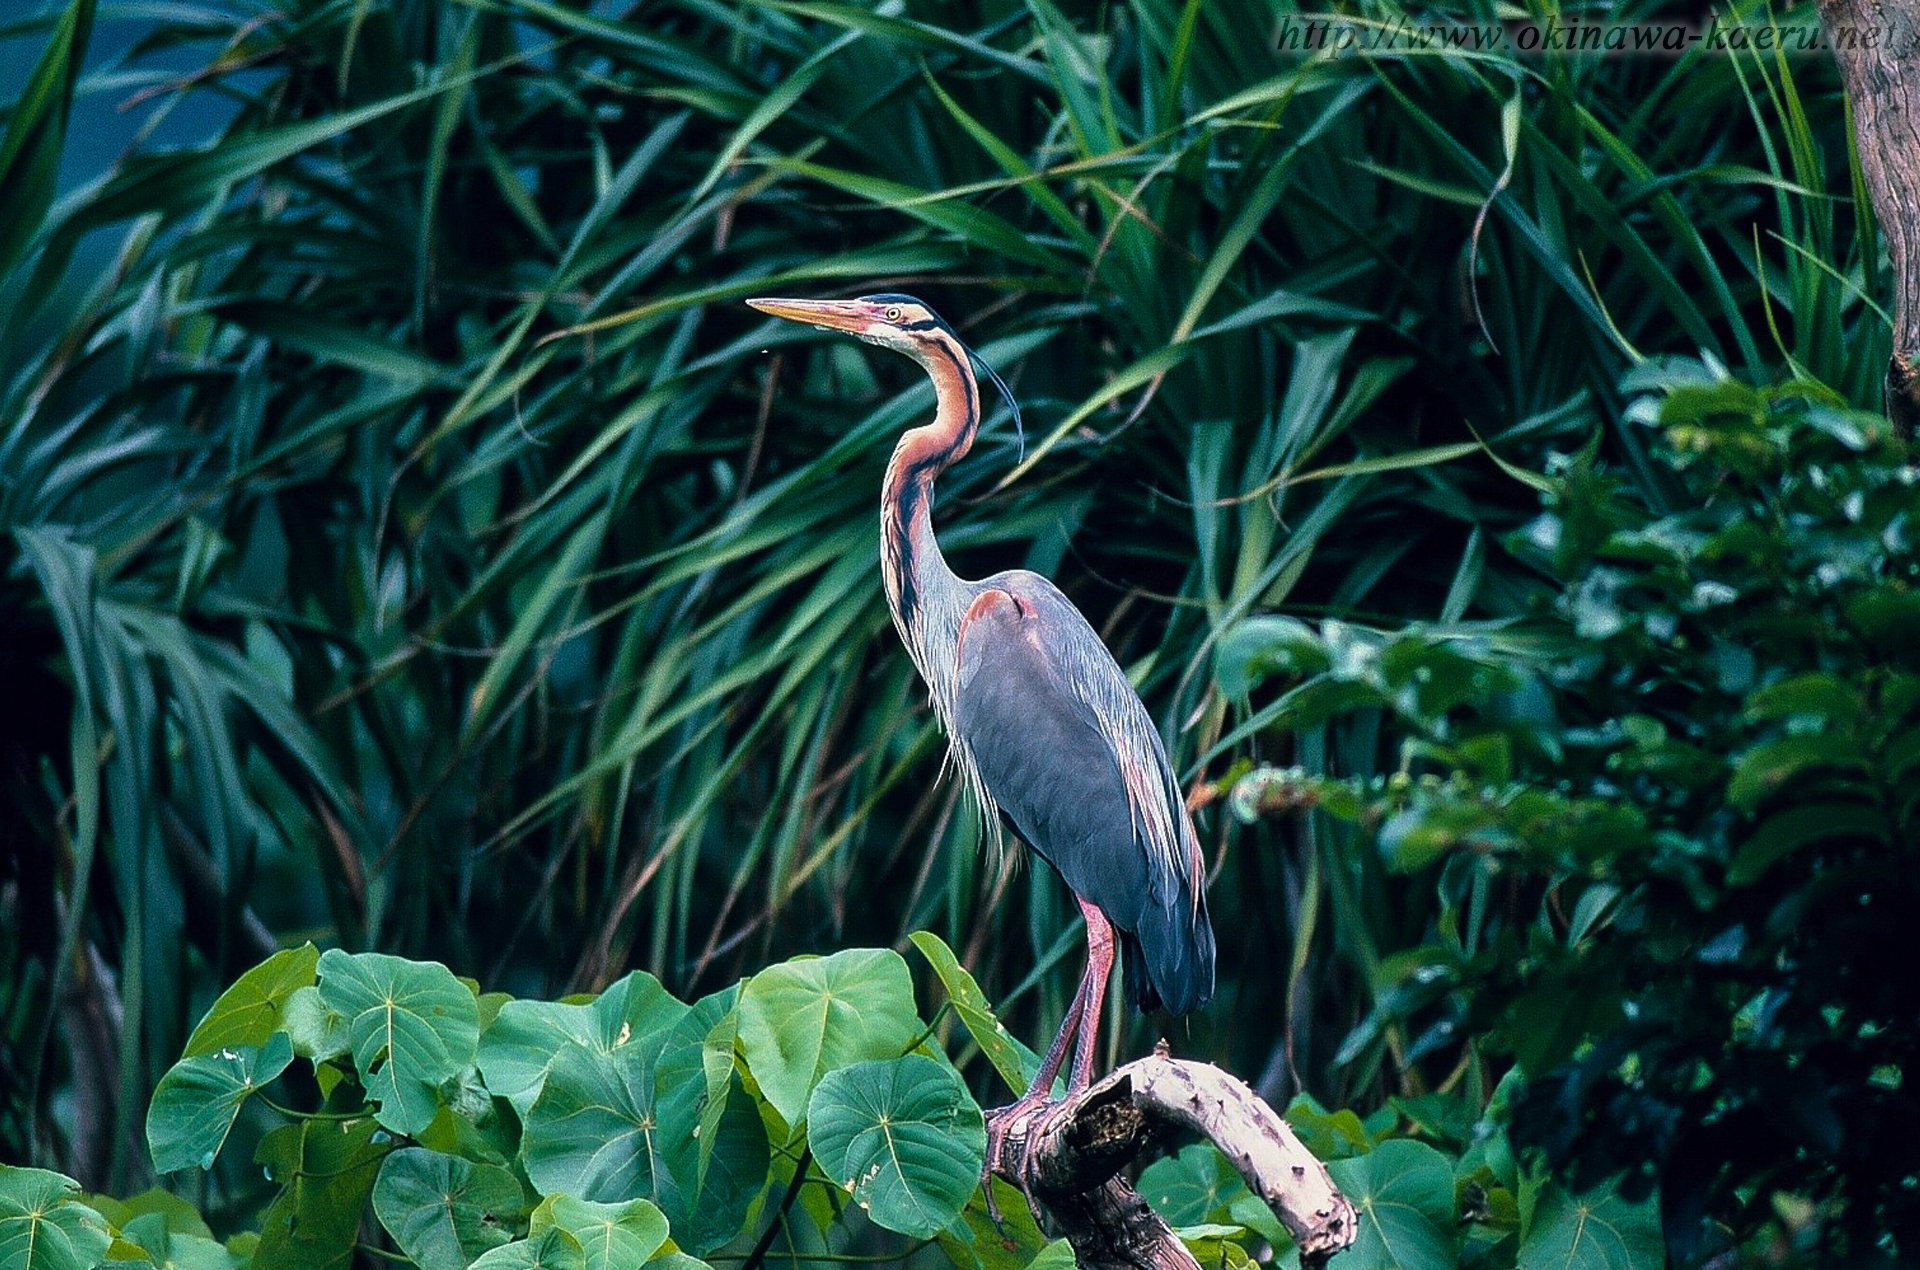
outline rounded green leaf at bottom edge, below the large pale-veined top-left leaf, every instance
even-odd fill
[[[420,1270],[467,1270],[511,1237],[524,1197],[497,1164],[405,1147],[380,1164],[372,1210]]]

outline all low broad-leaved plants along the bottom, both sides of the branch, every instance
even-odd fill
[[[937,1036],[956,1014],[1008,1086],[1035,1057],[937,936],[914,943],[947,993],[931,1026],[889,949],[793,959],[693,1003],[639,970],[593,997],[516,1001],[438,963],[276,953],[200,1022],[146,1124],[157,1170],[215,1170],[232,1203],[209,1214],[257,1220],[217,1239],[167,1191],[117,1201],[0,1168],[0,1262],[340,1270],[365,1249],[420,1270],[701,1270],[760,1264],[783,1237],[797,1260],[864,1239],[964,1270],[1066,1264],[1002,1184],[1004,1224],[989,1220],[981,1111]],[[1363,1214],[1342,1264],[1655,1266],[1651,1212],[1521,1170],[1501,1107],[1455,1124],[1444,1099],[1367,1122],[1298,1103],[1298,1132]],[[1404,1118],[1427,1141],[1396,1137]],[[265,1191],[221,1172],[242,1124]],[[1298,1262],[1212,1145],[1150,1164],[1140,1187],[1202,1264]]]

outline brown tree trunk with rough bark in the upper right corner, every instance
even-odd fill
[[[1920,6],[1818,0],[1818,8],[1853,104],[1860,175],[1893,265],[1887,417],[1912,436],[1920,427]]]

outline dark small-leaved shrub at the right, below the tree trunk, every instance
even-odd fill
[[[1540,480],[1509,542],[1534,619],[1223,642],[1229,690],[1286,684],[1277,722],[1398,745],[1233,807],[1319,809],[1438,891],[1342,1053],[1396,1024],[1411,1059],[1515,1066],[1515,1141],[1574,1191],[1657,1187],[1680,1262],[1764,1235],[1891,1264],[1920,1249],[1920,982],[1887,961],[1920,907],[1920,469],[1805,380],[1626,388],[1670,471]]]

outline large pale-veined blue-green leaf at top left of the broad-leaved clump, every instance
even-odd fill
[[[321,997],[348,1018],[353,1066],[382,1126],[419,1134],[440,1109],[440,1086],[474,1062],[480,1009],[434,961],[384,953],[321,957]]]

